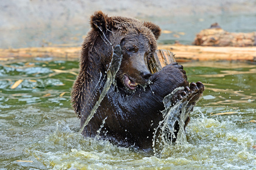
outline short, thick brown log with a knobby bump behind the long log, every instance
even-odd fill
[[[228,32],[214,23],[209,29],[200,31],[193,42],[201,46],[256,46],[256,32]]]

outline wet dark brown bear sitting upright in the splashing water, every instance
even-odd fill
[[[170,101],[172,105],[189,101],[187,110],[191,112],[204,86],[198,82],[188,87],[186,72],[177,63],[150,73],[148,61],[157,49],[156,40],[161,33],[157,25],[122,16],[109,17],[102,11],[91,16],[90,24],[72,91],[73,107],[81,118],[81,133],[121,146],[152,148],[153,135],[163,120],[164,97],[175,88],[184,87]],[[120,59],[120,67],[110,87],[104,88],[114,56]],[[106,95],[100,99],[104,92]],[[189,120],[187,117],[184,126]],[[175,130],[178,132],[179,125],[175,125]]]

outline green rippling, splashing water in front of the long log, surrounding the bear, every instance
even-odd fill
[[[256,169],[256,65],[182,64],[190,82],[205,84],[204,96],[187,142],[154,156],[78,133],[70,104],[78,61],[1,62],[0,169]]]

